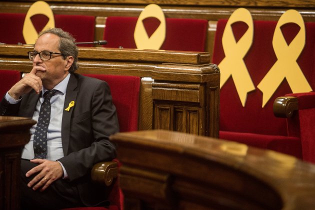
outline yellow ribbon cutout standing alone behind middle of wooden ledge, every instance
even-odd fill
[[[146,17],[156,17],[160,21],[160,24],[150,37],[148,37],[142,22]],[[159,49],[164,42],[165,34],[165,16],[161,7],[156,4],[145,6],[134,28],[133,37],[136,47],[138,49]]]

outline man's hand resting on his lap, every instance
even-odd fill
[[[58,161],[47,159],[31,159],[31,162],[39,165],[33,167],[26,172],[26,177],[38,172],[38,174],[28,182],[27,186],[33,190],[40,188],[40,191],[45,190],[53,181],[63,176],[63,170]]]

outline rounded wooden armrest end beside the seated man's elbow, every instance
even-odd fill
[[[112,180],[117,177],[118,163],[115,161],[106,161],[96,163],[91,171],[93,181],[109,186]]]

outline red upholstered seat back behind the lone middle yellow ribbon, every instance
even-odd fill
[[[106,19],[104,40],[106,47],[136,48],[133,33],[138,17],[109,16]],[[151,34],[159,24],[159,20],[147,18],[143,25]],[[207,20],[166,18],[166,36],[160,49],[204,51],[207,34]]]

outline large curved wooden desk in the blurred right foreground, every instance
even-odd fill
[[[313,209],[315,165],[166,130],[116,133],[127,209]]]

